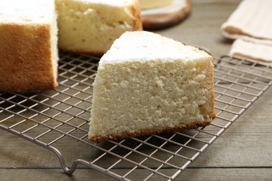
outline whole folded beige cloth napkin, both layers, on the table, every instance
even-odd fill
[[[272,0],[243,0],[221,29],[236,39],[230,55],[272,63]]]

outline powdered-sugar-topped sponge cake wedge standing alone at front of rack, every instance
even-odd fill
[[[212,57],[146,31],[126,32],[99,63],[89,139],[179,131],[216,117]]]

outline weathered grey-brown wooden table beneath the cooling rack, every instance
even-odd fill
[[[232,41],[222,37],[220,25],[238,4],[234,0],[192,1],[188,19],[156,33],[222,56],[229,52]],[[271,119],[269,88],[178,180],[272,180]],[[2,130],[0,134],[0,180],[114,180],[84,167],[66,175],[52,152]],[[77,148],[70,152],[76,154]]]

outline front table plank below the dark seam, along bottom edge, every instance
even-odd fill
[[[121,173],[114,170],[115,173]],[[146,171],[140,171],[133,175],[134,180],[140,180],[141,174]],[[166,171],[170,172],[169,170]],[[28,174],[27,174],[28,173]],[[0,169],[0,175],[10,180],[36,181],[36,180],[67,180],[67,181],[90,181],[107,180],[114,181],[103,173],[90,169],[78,169],[73,175],[66,175],[61,169]],[[210,180],[271,180],[271,168],[188,168],[176,180],[188,181],[210,181]],[[20,179],[18,179],[20,178]],[[162,180],[159,177],[152,177],[151,180]]]

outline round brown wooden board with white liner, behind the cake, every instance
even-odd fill
[[[174,3],[169,6],[142,10],[144,30],[158,30],[174,26],[188,17],[191,10],[190,0],[174,0]]]

